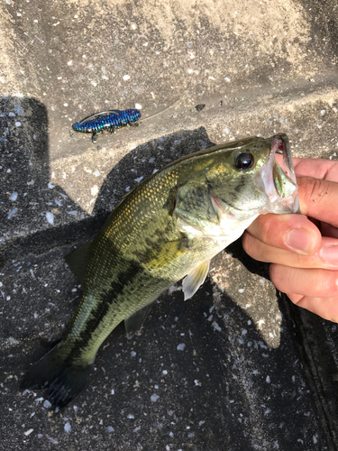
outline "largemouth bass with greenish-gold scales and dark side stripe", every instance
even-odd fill
[[[280,165],[276,153],[283,154]],[[25,374],[22,388],[47,388],[52,405],[67,405],[121,321],[131,337],[172,284],[184,278],[184,297],[191,298],[210,260],[257,216],[297,210],[286,134],[192,153],[142,181],[98,235],[67,257],[82,299],[67,335]]]

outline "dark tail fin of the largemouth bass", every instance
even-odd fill
[[[47,399],[65,407],[85,387],[93,364],[72,364],[62,345],[56,345],[23,376],[22,390],[48,389]]]

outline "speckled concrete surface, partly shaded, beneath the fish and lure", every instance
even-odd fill
[[[194,299],[178,284],[140,336],[115,329],[65,410],[18,389],[76,308],[64,255],[141,177],[255,134],[337,158],[337,14],[317,0],[2,0],[0,449],[337,449],[337,327],[277,293],[240,242]],[[137,128],[69,136],[139,105]]]

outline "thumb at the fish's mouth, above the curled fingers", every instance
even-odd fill
[[[338,226],[338,183],[312,177],[297,178],[300,212]]]

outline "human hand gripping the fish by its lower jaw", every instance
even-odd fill
[[[243,248],[271,263],[271,281],[292,302],[338,322],[338,162],[294,159],[294,165],[301,215],[259,216]]]

